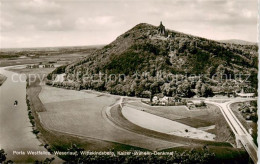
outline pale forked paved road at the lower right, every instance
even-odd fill
[[[243,147],[248,152],[249,156],[252,158],[254,163],[257,163],[257,147],[253,142],[252,136],[243,127],[237,117],[234,115],[233,111],[230,109],[230,105],[235,102],[244,102],[255,99],[250,98],[236,98],[230,101],[219,103],[214,102],[212,99],[206,99],[205,103],[216,105],[220,108],[222,114],[224,115],[226,121],[228,122],[230,128],[234,132],[236,139],[241,142]]]

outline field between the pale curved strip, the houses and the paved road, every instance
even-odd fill
[[[224,141],[234,144],[233,133],[222,113],[216,106],[207,105],[205,108],[187,110],[184,106],[154,107],[146,105],[140,101],[138,102],[127,99],[124,103],[126,105],[134,106],[135,109],[161,116],[193,128],[206,129],[206,132],[216,135],[216,141]]]

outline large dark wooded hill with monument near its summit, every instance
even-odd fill
[[[66,74],[64,82],[48,83],[139,97],[256,91],[257,51],[257,45],[217,42],[168,29],[162,33],[160,26],[141,23],[85,59],[59,68]],[[250,83],[223,80],[238,74],[244,80],[250,74]]]

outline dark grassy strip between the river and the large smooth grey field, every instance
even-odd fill
[[[20,70],[23,72],[23,70]],[[46,111],[46,108],[38,98],[38,95],[41,91],[41,86],[39,85],[39,81],[31,84],[27,88],[28,98],[32,104],[32,111],[35,117],[36,127],[40,131],[37,135],[40,141],[50,148],[52,151],[67,151],[68,148],[71,147],[72,144],[76,144],[77,146],[84,148],[85,150],[92,151],[108,151],[108,150],[146,150],[141,149],[139,147],[124,145],[120,143],[103,141],[89,137],[81,137],[77,135],[69,135],[67,133],[62,133],[59,131],[50,130],[44,128],[41,120],[38,117],[39,112]],[[66,156],[60,156],[62,159],[67,159]]]

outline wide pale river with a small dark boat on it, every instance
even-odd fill
[[[5,150],[8,160],[15,162],[27,163],[51,158],[48,155],[28,155],[27,151],[47,150],[32,133],[26,104],[25,76],[20,76],[19,80],[17,73],[7,71],[6,68],[0,67],[0,74],[7,77],[0,87],[0,149]],[[15,100],[18,101],[17,106],[14,106]]]

